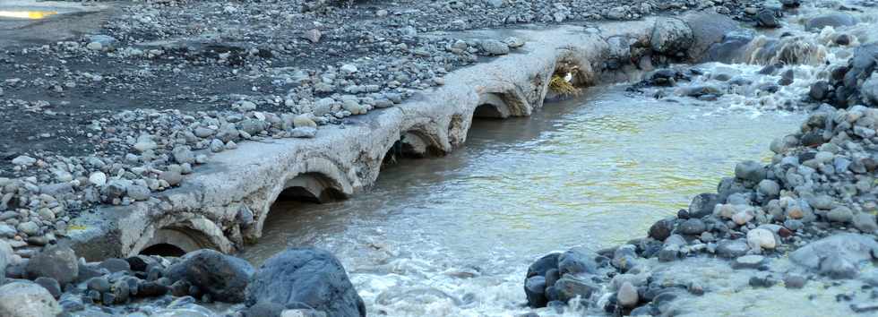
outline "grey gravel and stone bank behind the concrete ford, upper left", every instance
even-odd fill
[[[215,153],[246,141],[314,138],[321,127],[354,124],[351,116],[395,107],[442,86],[455,69],[525,45],[453,31],[690,9],[754,23],[748,12],[761,7],[155,1],[94,9],[106,21],[82,37],[4,43],[0,117],[7,124],[0,132],[9,138],[0,144],[0,236],[30,257],[71,230],[92,226],[75,221],[83,213],[161,200]],[[39,25],[98,13],[61,13]],[[16,30],[39,39],[33,28]],[[644,69],[666,62],[650,58],[635,62]]]

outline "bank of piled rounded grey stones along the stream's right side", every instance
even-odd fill
[[[578,300],[607,312],[656,315],[668,313],[667,303],[681,294],[698,296],[710,289],[660,285],[651,278],[649,259],[673,268],[676,261],[709,257],[725,259],[736,270],[768,270],[788,253],[801,273],[788,272],[787,287],[849,278],[871,285],[872,277],[860,271],[878,260],[878,105],[861,96],[869,94],[864,87],[874,76],[873,48],[858,48],[848,66],[840,67],[844,72],[833,73],[838,81],[825,95],[841,95],[833,97],[835,107],[816,107],[800,131],[771,142],[770,164],[738,163],[717,193],[697,195],[688,209],[652,225],[645,238],[596,253],[575,248],[539,259],[525,279],[529,304],[563,306]],[[651,81],[673,82],[680,76],[658,72]],[[780,281],[754,275],[749,285],[772,287]],[[851,305],[855,313],[867,312],[868,306]]]

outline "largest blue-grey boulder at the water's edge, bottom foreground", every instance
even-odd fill
[[[366,316],[366,304],[341,262],[328,251],[293,248],[268,259],[247,286],[247,305],[275,303],[330,316]]]

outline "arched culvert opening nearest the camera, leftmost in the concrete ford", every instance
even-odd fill
[[[203,248],[211,248],[210,240],[201,232],[187,227],[166,227],[139,252],[143,255],[181,256]]]

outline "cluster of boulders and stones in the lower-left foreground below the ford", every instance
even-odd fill
[[[259,268],[213,250],[86,262],[52,245],[27,262],[12,257],[0,243],[4,316],[366,316],[341,263],[319,249],[289,249]]]

